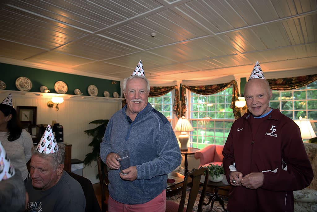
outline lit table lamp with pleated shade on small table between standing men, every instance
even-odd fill
[[[176,126],[174,128],[174,132],[181,132],[178,136],[178,140],[180,142],[180,150],[187,151],[187,142],[189,139],[189,135],[187,132],[194,131],[194,128],[191,126],[191,123],[184,116],[178,119]]]

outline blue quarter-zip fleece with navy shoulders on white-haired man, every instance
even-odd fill
[[[181,163],[177,138],[170,122],[150,103],[138,113],[130,125],[126,106],[116,112],[106,128],[100,144],[100,157],[129,150],[131,166],[137,167],[137,179],[125,181],[119,170],[109,170],[110,196],[124,204],[142,204],[154,199],[166,188],[167,173]]]

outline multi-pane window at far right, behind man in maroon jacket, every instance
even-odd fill
[[[289,91],[275,91],[270,107],[278,108],[287,117],[295,120],[301,116],[309,119],[317,131],[317,81]]]

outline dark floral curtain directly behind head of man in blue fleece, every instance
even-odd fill
[[[174,86],[151,86],[149,97],[160,97],[175,89],[173,113],[179,118],[179,90],[178,85]],[[123,94],[124,98],[124,94]],[[126,99],[122,101],[122,107],[126,105]]]

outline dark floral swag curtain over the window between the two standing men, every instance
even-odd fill
[[[233,110],[233,114],[235,118],[241,117],[241,113],[239,108],[235,106],[235,102],[238,100],[239,91],[236,80],[232,80],[229,83],[217,84],[217,85],[197,85],[197,86],[189,86],[182,85],[182,106],[181,106],[181,116],[185,116],[186,108],[187,108],[187,98],[186,98],[186,88],[191,92],[202,94],[202,95],[210,95],[221,92],[233,85],[232,89],[232,100],[230,108]]]

